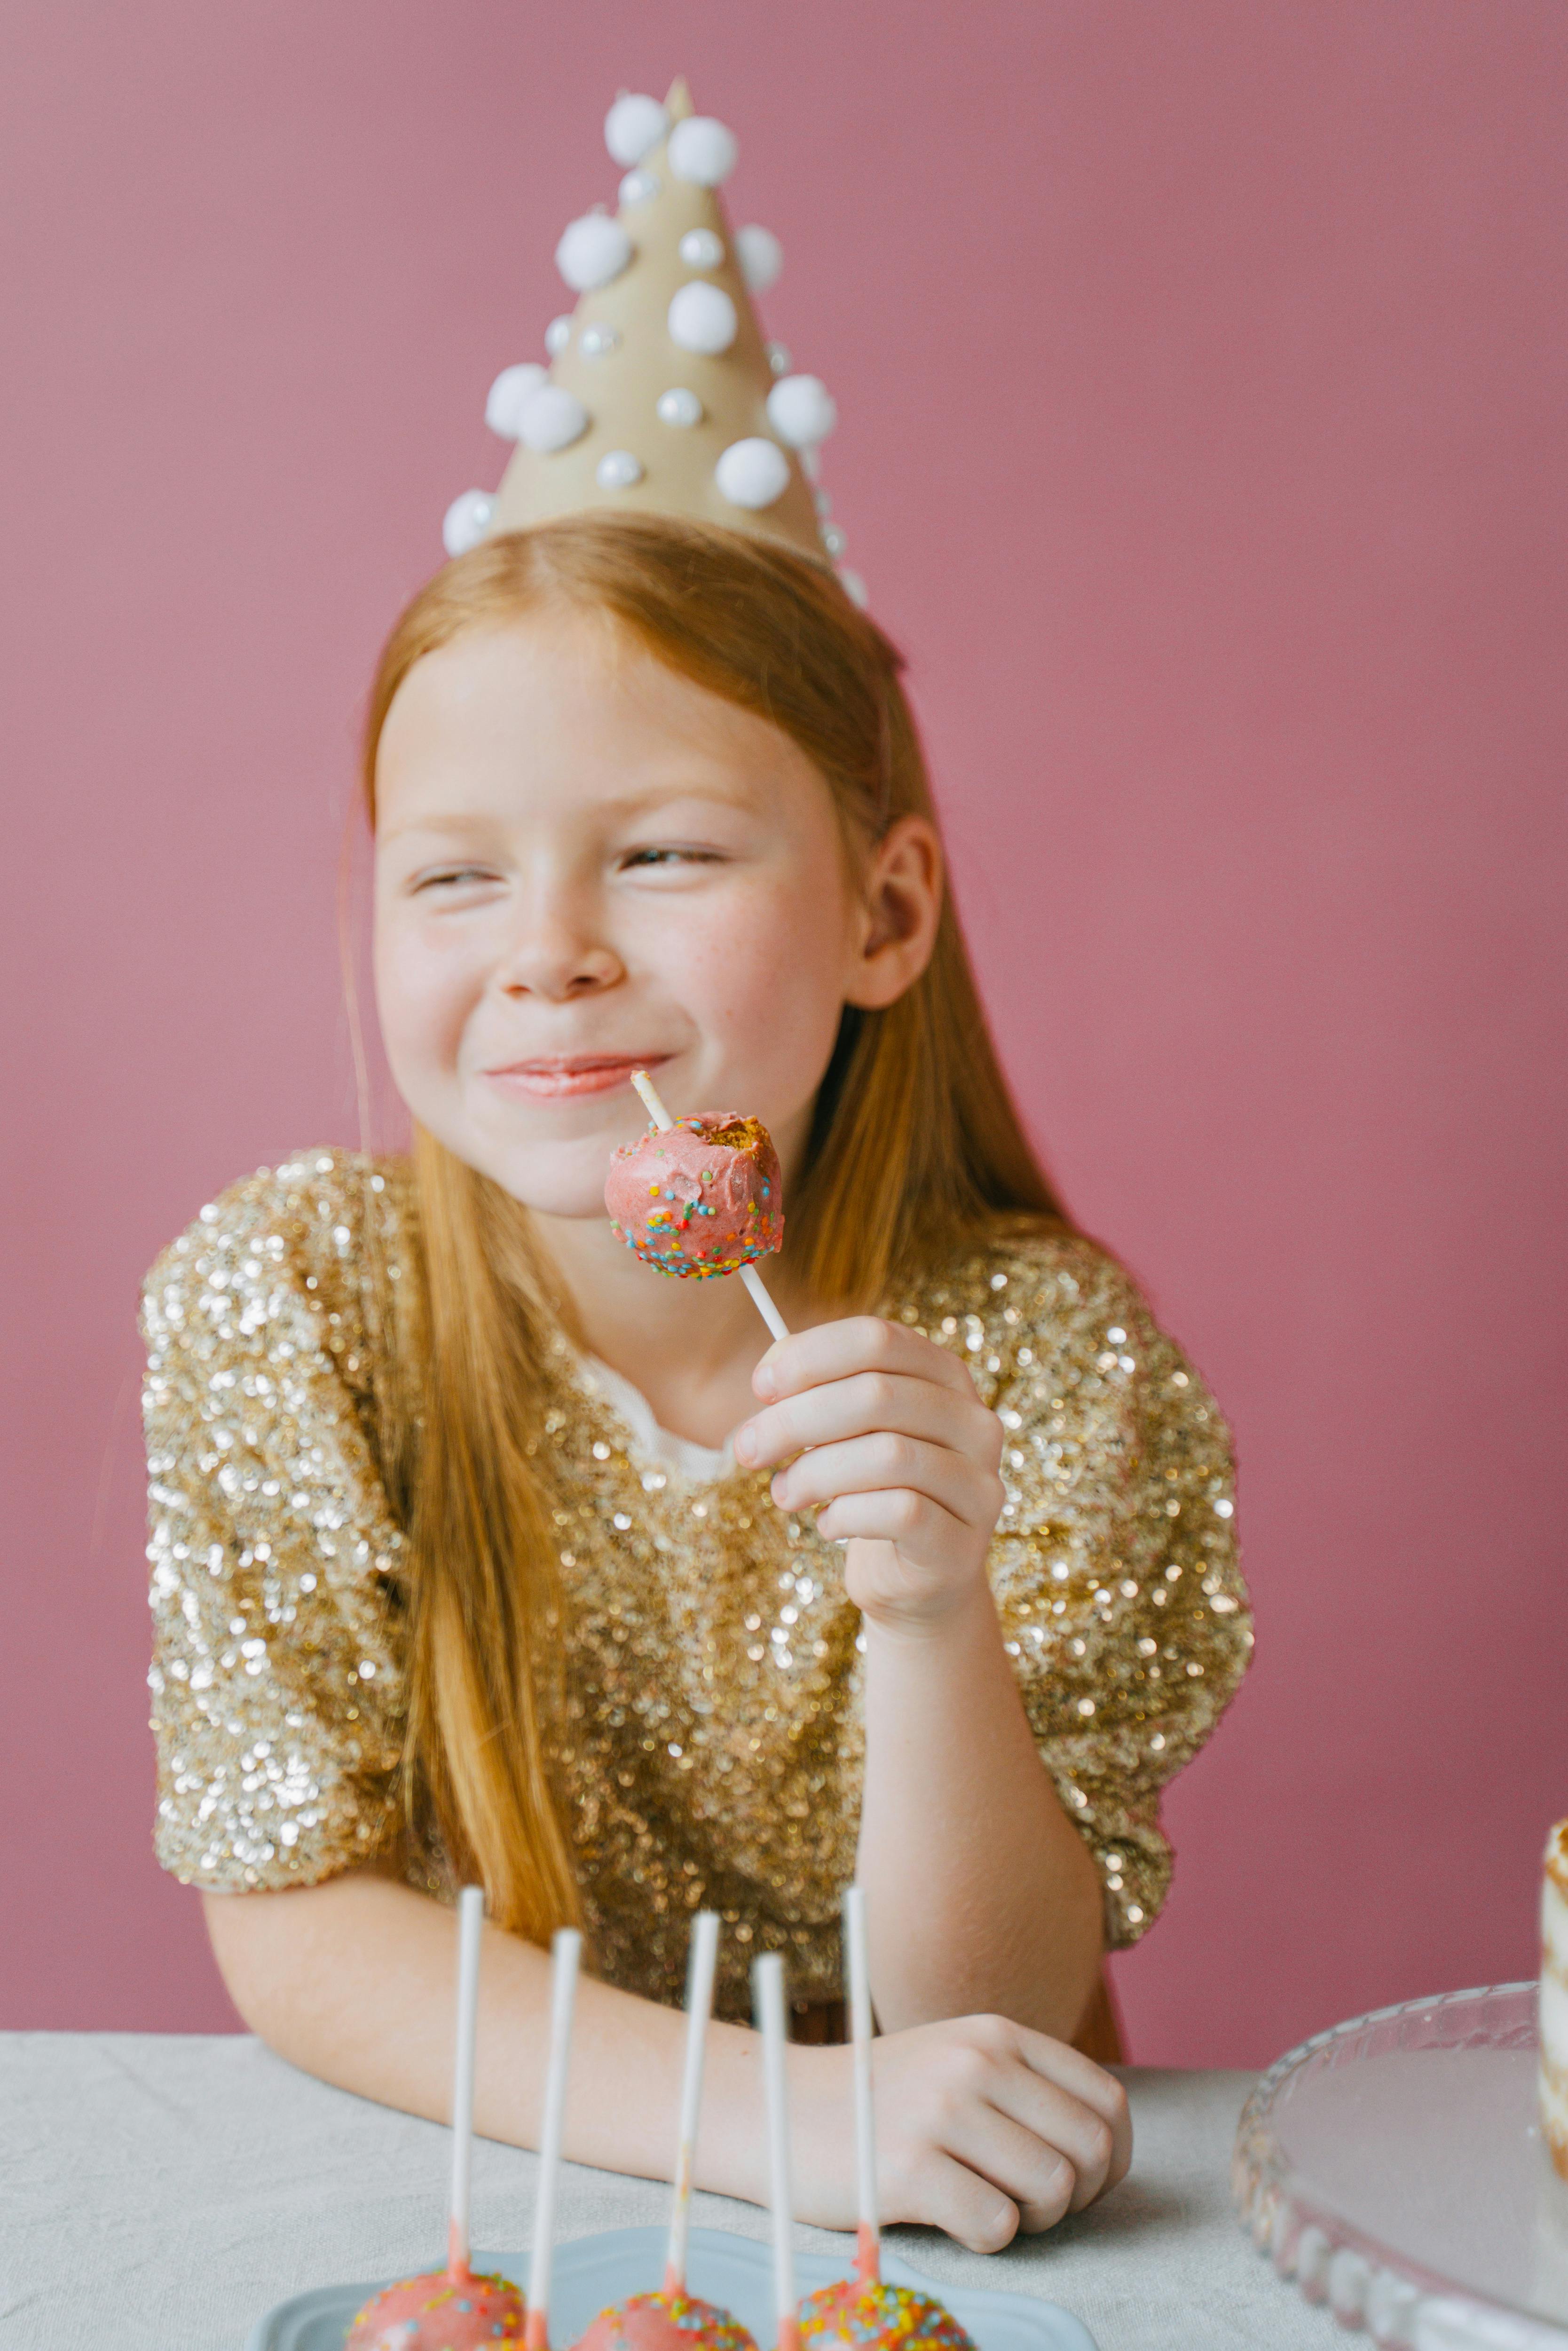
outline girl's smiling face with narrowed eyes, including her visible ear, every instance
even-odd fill
[[[548,1215],[604,1215],[665,1103],[755,1112],[785,1171],[844,1004],[891,1004],[940,905],[931,825],[851,872],[778,726],[595,614],[468,630],[397,689],[376,762],[376,999],[397,1089]]]

